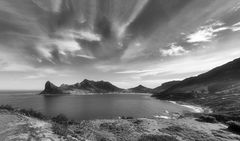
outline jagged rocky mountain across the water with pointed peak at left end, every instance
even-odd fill
[[[118,88],[105,81],[91,81],[83,80],[81,83],[73,85],[62,84],[60,87],[55,86],[53,83],[47,81],[45,89],[41,94],[89,94],[89,93],[114,93],[122,92],[123,89]]]

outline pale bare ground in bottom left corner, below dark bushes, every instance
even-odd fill
[[[61,141],[51,123],[7,111],[0,112],[0,141]]]

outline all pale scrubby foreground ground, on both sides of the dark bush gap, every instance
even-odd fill
[[[112,119],[81,121],[66,127],[61,137],[53,124],[17,113],[0,112],[0,141],[239,141],[221,123],[204,123],[193,117],[179,119]]]

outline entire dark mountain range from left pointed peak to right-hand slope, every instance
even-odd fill
[[[163,83],[154,89],[139,85],[122,89],[107,81],[83,80],[73,85],[60,87],[46,82],[41,94],[89,94],[89,93],[153,93],[162,99],[191,99],[208,94],[240,92],[240,58],[216,67],[206,73],[182,81]]]

